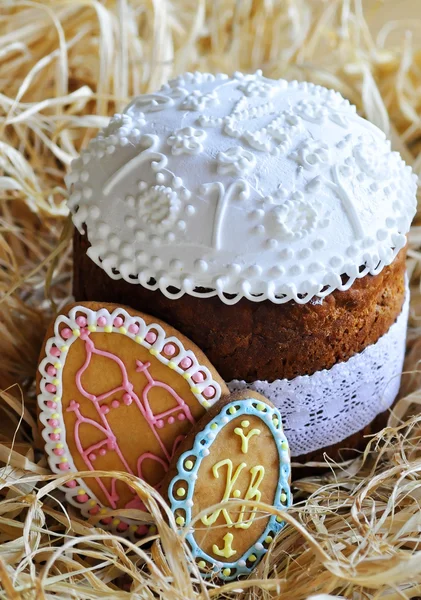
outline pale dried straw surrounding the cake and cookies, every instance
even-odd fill
[[[355,102],[420,173],[420,40],[419,0],[0,0],[1,598],[421,596],[416,225],[407,373],[390,427],[364,456],[296,483],[290,524],[247,582],[191,577],[159,496],[138,480],[157,524],[151,547],[88,527],[63,506],[33,387],[46,322],[71,293],[63,175],[130,96],[194,69],[309,79]]]

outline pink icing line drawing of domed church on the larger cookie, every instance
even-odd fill
[[[99,322],[99,319],[98,319],[98,322]],[[148,335],[151,336],[150,339],[153,338],[153,341],[156,340],[157,336],[154,332],[149,332]],[[100,349],[96,348],[95,344],[92,341],[92,339],[90,338],[90,334],[87,330],[81,331],[80,339],[85,344],[86,357],[85,357],[84,364],[76,373],[76,387],[77,387],[79,393],[84,398],[87,398],[88,400],[90,400],[92,402],[92,404],[94,405],[94,407],[96,409],[97,415],[100,419],[100,422],[97,422],[94,419],[85,417],[80,411],[79,403],[77,403],[75,400],[72,400],[70,402],[69,407],[67,408],[68,411],[74,412],[76,415],[76,422],[74,424],[74,440],[76,443],[77,450],[78,450],[80,456],[82,457],[85,465],[87,466],[87,468],[89,470],[91,470],[91,471],[95,470],[95,468],[92,464],[93,455],[96,457],[96,453],[99,452],[99,454],[101,456],[103,456],[104,454],[102,451],[104,451],[104,453],[105,453],[105,448],[107,448],[108,450],[114,451],[117,453],[117,456],[119,457],[121,463],[124,465],[124,469],[128,473],[131,473],[133,475],[135,474],[138,477],[140,477],[141,479],[144,479],[144,476],[142,473],[142,464],[143,464],[143,461],[146,459],[156,461],[166,471],[168,469],[169,461],[171,460],[171,457],[175,451],[176,443],[177,444],[179,443],[179,438],[177,438],[176,442],[174,443],[173,449],[171,451],[169,451],[167,449],[167,447],[165,446],[164,441],[160,438],[158,429],[163,427],[164,419],[171,418],[172,414],[177,415],[180,420],[187,418],[191,423],[194,423],[194,419],[193,419],[193,416],[190,412],[188,405],[177,394],[177,392],[175,390],[173,390],[167,383],[164,383],[159,380],[155,380],[152,377],[152,375],[149,372],[149,368],[150,368],[149,362],[143,363],[140,360],[136,360],[136,371],[138,373],[143,373],[143,375],[146,378],[146,385],[141,391],[141,396],[138,396],[133,389],[133,384],[129,381],[126,366],[118,356],[116,356],[112,352],[107,352],[105,350],[100,350]],[[94,394],[91,394],[89,391],[87,391],[84,388],[84,386],[82,384],[82,376],[89,368],[92,357],[95,355],[102,356],[104,358],[114,361],[118,365],[120,372],[121,372],[121,384],[119,386],[117,386],[116,388],[113,388],[107,392],[102,393],[99,396],[95,396]],[[170,394],[172,396],[172,398],[175,400],[175,406],[173,408],[170,408],[170,409],[163,411],[161,413],[158,413],[158,414],[154,414],[154,412],[149,404],[148,394],[149,394],[150,390],[155,387],[165,390],[168,394]],[[163,458],[156,456],[150,452],[143,453],[141,456],[139,456],[139,458],[137,460],[137,468],[136,468],[137,473],[134,473],[133,470],[131,469],[130,465],[127,463],[127,461],[120,449],[120,446],[119,446],[116,436],[113,432],[113,429],[112,429],[111,425],[108,423],[107,414],[110,412],[110,407],[107,405],[101,404],[101,402],[103,402],[104,400],[108,400],[108,399],[110,399],[110,397],[113,397],[113,396],[115,397],[116,394],[118,394],[119,392],[124,392],[122,397],[123,397],[123,401],[125,404],[129,405],[129,404],[134,403],[136,408],[143,415],[143,417],[147,421],[150,429],[152,430],[153,434],[155,435],[155,437],[159,443],[159,446],[161,448],[161,451],[165,457],[163,459]],[[115,408],[113,406],[113,402],[111,402],[111,408]],[[174,419],[174,417],[172,417],[172,418]],[[82,446],[82,442],[81,442],[80,434],[79,434],[79,429],[82,424],[84,425],[85,431],[86,431],[86,425],[89,425],[91,427],[94,427],[96,430],[100,431],[103,434],[103,438],[99,439],[99,441],[91,444],[89,447],[84,448]],[[98,439],[98,435],[96,435],[96,439]],[[103,491],[109,505],[112,508],[117,508],[117,502],[119,500],[119,495],[117,492],[117,480],[114,478],[111,478],[111,480],[110,480],[111,484],[110,484],[110,489],[109,489],[105,485],[103,480],[101,480],[100,478],[95,478],[95,479],[96,479],[99,487]],[[136,496],[133,500],[129,501],[126,506],[129,506],[133,503],[137,504],[138,502],[139,502],[139,499]],[[103,519],[102,522],[105,523],[106,520]]]

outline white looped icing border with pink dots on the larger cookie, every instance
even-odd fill
[[[38,366],[38,371],[41,374],[41,379],[39,382],[39,394],[37,395],[39,421],[43,425],[41,435],[45,442],[44,448],[47,454],[48,463],[53,473],[65,475],[66,473],[77,472],[73,462],[73,457],[69,451],[66,441],[66,427],[64,424],[63,412],[60,404],[63,390],[63,373],[68,351],[71,345],[80,336],[80,326],[76,322],[77,316],[84,316],[87,319],[87,329],[90,332],[112,334],[118,333],[130,338],[143,348],[146,348],[150,354],[157,358],[161,363],[167,365],[171,370],[176,371],[181,377],[186,379],[193,395],[204,408],[208,409],[221,397],[221,386],[214,379],[208,367],[201,365],[197,360],[193,350],[186,350],[183,343],[177,337],[173,335],[167,337],[164,328],[158,323],[152,321],[150,324],[147,324],[140,315],[132,316],[124,308],[120,307],[116,307],[112,312],[109,312],[107,308],[101,308],[95,311],[82,305],[73,306],[68,314],[60,314],[56,317],[54,321],[54,336],[50,337],[46,341],[43,352],[44,358],[40,361]],[[105,325],[103,326],[97,325],[100,317],[104,317],[106,320]],[[123,325],[119,327],[116,327],[113,324],[117,317],[123,319]],[[60,325],[65,325],[67,328],[71,329],[72,336],[69,339],[64,339],[60,335]],[[139,327],[136,334],[129,331],[131,325],[137,325]],[[149,331],[154,331],[157,334],[156,340],[153,343],[148,343],[145,339]],[[167,343],[174,344],[179,350],[178,355],[173,360],[166,358],[162,354],[162,350]],[[51,353],[51,350],[54,348],[58,349],[58,356]],[[179,366],[179,363],[186,357],[191,359],[192,364],[189,368],[182,369]],[[47,373],[46,369],[48,365],[53,365],[54,369],[56,370],[55,375]],[[205,375],[203,381],[199,383],[194,382],[192,379],[192,375],[198,370]],[[203,396],[203,391],[209,385],[212,385],[215,388],[215,395],[211,400],[207,400]],[[56,391],[49,391],[47,386],[54,386]],[[50,406],[47,403],[49,403]],[[59,421],[59,423],[56,425],[51,425],[49,423],[53,415],[54,420]],[[51,434],[59,435],[59,440],[51,440]],[[62,449],[64,450],[64,453],[60,456],[54,454],[54,448],[57,446],[58,442],[61,444]],[[60,469],[59,467],[59,464],[63,464],[64,459],[67,461],[70,467],[66,470]],[[106,513],[112,509],[104,506],[103,503],[98,500],[96,495],[89,489],[89,486],[84,483],[83,479],[78,479],[75,477],[74,482],[75,484],[72,487],[69,487],[69,482],[67,485],[64,484],[59,486],[59,489],[65,493],[67,502],[77,507],[86,519],[89,519],[92,516],[89,511],[95,506],[98,506],[100,512],[104,514],[104,518],[107,518]],[[85,501],[81,501],[78,500],[78,497],[87,497],[87,499]],[[121,525],[121,523],[127,523],[129,527],[124,530],[119,530],[118,527]],[[101,528],[110,530],[117,535],[123,535],[125,537],[128,536],[133,540],[139,539],[135,536],[139,524],[135,525],[134,521],[130,519],[119,519],[117,517],[113,517],[111,523],[105,524],[100,522],[98,525]],[[151,528],[149,528],[149,532],[151,533]]]

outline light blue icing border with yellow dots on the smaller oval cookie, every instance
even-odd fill
[[[173,512],[177,509],[181,509],[185,513],[186,526],[189,526],[192,519],[192,498],[195,482],[197,480],[197,473],[203,458],[208,454],[210,447],[222,428],[228,425],[233,419],[243,415],[253,415],[258,417],[271,432],[279,456],[278,484],[275,491],[273,506],[279,509],[285,509],[291,506],[292,496],[289,486],[291,473],[289,445],[282,428],[281,414],[277,408],[263,403],[256,398],[243,398],[226,404],[219,414],[209,421],[206,427],[196,435],[193,447],[190,450],[183,452],[177,460],[177,475],[174,476],[168,486],[168,498]],[[275,425],[274,420],[277,420],[277,425]],[[190,470],[186,470],[184,463],[192,456],[196,457],[194,466]],[[173,494],[174,486],[178,481],[187,483],[187,493],[183,500],[178,500]],[[285,498],[282,498],[282,501],[281,497],[283,494],[285,495]],[[266,554],[268,546],[272,542],[272,540],[270,542],[265,542],[265,540],[267,540],[271,533],[276,535],[284,525],[284,521],[278,521],[278,517],[272,515],[259,539],[234,562],[217,561],[206,554],[197,544],[192,531],[187,533],[186,539],[190,545],[193,558],[196,561],[202,560],[206,561],[208,565],[213,565],[211,570],[202,572],[203,577],[208,578],[217,575],[225,581],[231,581],[240,575],[249,574],[255,568],[259,560]],[[251,565],[249,564],[249,566],[247,566],[247,559],[252,555],[254,555],[254,560]],[[199,568],[201,567],[199,566]],[[224,574],[225,570],[228,570],[229,574]]]

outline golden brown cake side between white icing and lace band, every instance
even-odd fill
[[[219,298],[166,298],[124,280],[112,280],[86,255],[75,234],[74,295],[77,301],[127,304],[170,323],[195,342],[225,381],[292,379],[330,369],[384,335],[405,296],[403,249],[379,275],[357,279],[344,292],[299,305],[270,301],[223,304]]]

